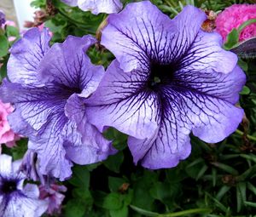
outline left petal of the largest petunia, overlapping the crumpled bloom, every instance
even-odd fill
[[[114,60],[95,94],[85,101],[90,123],[100,131],[113,126],[138,139],[149,138],[158,127],[157,96],[140,91],[145,79],[139,71],[121,71]]]

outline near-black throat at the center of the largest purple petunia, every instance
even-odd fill
[[[172,83],[175,67],[172,64],[152,63],[150,65],[148,88],[157,90],[161,85]]]

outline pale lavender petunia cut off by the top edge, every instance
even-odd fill
[[[100,13],[117,13],[119,12],[123,4],[120,0],[61,0],[63,3],[67,3],[70,6],[78,6],[79,9],[84,11],[91,11],[92,14]]]

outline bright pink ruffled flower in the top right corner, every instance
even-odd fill
[[[233,28],[238,28],[247,20],[256,18],[256,4],[234,4],[218,14],[216,19],[216,31],[226,40]],[[256,24],[251,24],[241,31],[239,41],[256,37]]]

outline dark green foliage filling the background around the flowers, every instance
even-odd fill
[[[131,1],[125,1],[128,3]],[[171,17],[186,4],[219,11],[233,3],[248,1],[153,0]],[[49,7],[50,4],[50,7]],[[45,26],[53,32],[52,43],[62,42],[67,35],[96,35],[106,15],[82,12],[59,0],[35,0],[32,5],[49,12]],[[9,36],[15,29],[0,32],[0,60],[9,58]],[[226,49],[236,49],[237,32],[231,33]],[[2,49],[3,48],[3,49]],[[96,64],[108,66],[113,55],[104,48],[88,52]],[[109,128],[105,136],[113,140],[119,153],[102,163],[75,165],[73,178],[64,182],[68,191],[63,203],[67,217],[127,216],[248,216],[256,214],[256,63],[241,56],[239,63],[247,73],[247,86],[241,92],[241,106],[246,116],[236,133],[218,144],[207,144],[191,136],[192,154],[176,168],[150,171],[136,166],[127,148],[127,136]],[[6,68],[1,68],[1,76]],[[26,140],[13,150],[15,159],[26,151]]]

